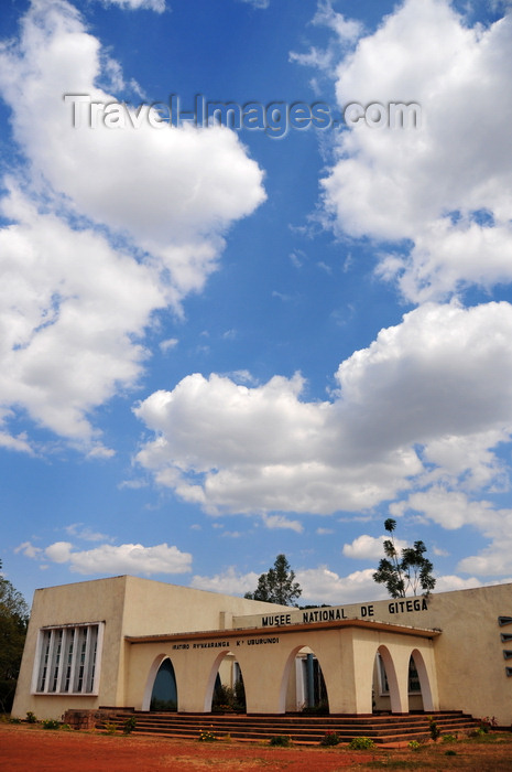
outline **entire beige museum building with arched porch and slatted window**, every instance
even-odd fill
[[[464,710],[512,725],[512,585],[296,609],[121,576],[36,590],[12,715]],[[160,707],[162,709],[162,707]]]

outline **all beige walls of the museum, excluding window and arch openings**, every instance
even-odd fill
[[[166,656],[175,669],[178,709],[208,711],[215,677],[228,652],[242,672],[248,712],[283,712],[296,708],[295,658],[309,647],[322,666],[331,712],[371,712],[379,651],[393,711],[415,707],[407,694],[413,654],[425,710],[462,709],[477,717],[494,716],[501,726],[510,726],[512,677],[506,676],[506,665],[511,663],[503,651],[512,650],[512,642],[503,642],[501,634],[512,635],[512,624],[500,628],[499,616],[512,618],[512,585],[436,593],[428,601],[377,601],[308,611],[134,577],[37,590],[13,715],[24,717],[32,710],[39,718],[58,718],[67,708],[99,706],[146,709]],[[350,620],[380,624],[353,626]],[[40,629],[94,622],[105,622],[98,695],[31,694]],[[428,632],[434,629],[440,634]],[[201,644],[203,631],[210,633]],[[187,637],[188,633],[195,637]],[[153,640],[138,640],[141,636]],[[271,642],[249,643],[261,637]],[[189,647],[179,646],[179,641],[188,641]],[[229,668],[222,667],[226,682]]]

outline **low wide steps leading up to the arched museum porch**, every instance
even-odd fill
[[[355,737],[370,737],[378,744],[428,740],[431,731],[426,714],[372,716],[246,716],[237,714],[157,714],[130,709],[111,709],[108,719],[122,730],[127,718],[137,720],[134,735],[196,740],[200,731],[211,731],[218,739],[229,735],[231,740],[259,742],[285,735],[295,744],[318,744],[324,735],[336,732],[342,743]],[[438,711],[432,717],[442,735],[467,735],[479,725],[462,711]],[[105,730],[106,721],[98,720],[97,729]]]

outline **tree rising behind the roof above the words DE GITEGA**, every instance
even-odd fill
[[[384,528],[391,534],[391,538],[384,539],[385,558],[381,558],[373,580],[378,585],[385,585],[391,598],[405,598],[407,592],[416,596],[420,589],[428,597],[436,580],[432,576],[434,566],[425,557],[424,543],[415,542],[413,547],[404,547],[399,554],[393,538],[396,521],[389,517]]]

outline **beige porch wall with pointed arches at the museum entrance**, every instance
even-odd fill
[[[254,643],[262,641],[261,643]],[[188,646],[188,647],[186,647]],[[281,630],[279,634],[221,634],[217,639],[179,637],[174,641],[132,643],[128,663],[128,705],[149,707],[154,674],[165,657],[173,663],[178,710],[203,712],[211,708],[211,695],[219,665],[235,655],[246,686],[250,714],[282,714],[296,709],[290,693],[295,679],[295,658],[305,646],[317,657],[327,687],[331,712],[372,711],[372,684],[379,647],[390,652],[397,673],[403,703],[395,710],[406,712],[408,661],[421,652],[426,663],[433,699],[437,709],[437,688],[432,641],[397,632],[372,630]]]

